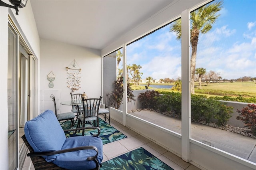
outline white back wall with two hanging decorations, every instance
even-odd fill
[[[57,112],[70,112],[71,106],[60,105],[60,101],[71,99],[70,92],[72,90],[67,87],[68,76],[66,67],[74,59],[82,69],[81,89],[74,93],[85,92],[88,98],[100,97],[101,56],[99,50],[42,39],[40,40],[40,51],[40,112],[46,109],[54,109],[53,102],[50,99],[50,94],[52,93],[56,97],[57,107],[60,107],[60,110]],[[53,88],[48,87],[50,81],[48,81],[47,75],[50,71],[55,75]]]

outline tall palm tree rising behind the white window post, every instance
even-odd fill
[[[195,93],[196,50],[199,34],[206,34],[212,29],[212,24],[220,16],[217,14],[222,8],[223,1],[208,4],[190,14],[190,43],[192,47],[190,60],[191,93]],[[175,32],[177,40],[181,38],[181,20],[176,20],[170,26],[170,32]]]

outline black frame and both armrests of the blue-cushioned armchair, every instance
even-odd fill
[[[64,132],[70,132],[74,130],[85,130],[85,129],[98,129],[97,134],[93,134],[92,136],[98,136],[100,134],[100,128],[98,127],[84,127],[84,128],[77,128],[77,129],[68,129],[64,130]],[[100,170],[101,164],[99,164],[98,160],[96,159],[98,156],[98,149],[95,146],[80,146],[76,148],[70,148],[70,149],[64,149],[64,150],[56,150],[56,151],[51,151],[51,152],[34,152],[33,148],[30,146],[28,143],[26,136],[23,135],[22,140],[28,147],[28,150],[30,153],[27,154],[27,156],[30,156],[31,161],[34,165],[35,170],[65,170],[64,168],[60,168],[56,164],[52,162],[46,162],[46,160],[42,156],[48,156],[48,155],[54,155],[54,154],[60,154],[60,153],[65,153],[65,152],[72,152],[76,150],[84,150],[84,149],[93,149],[96,150],[96,155],[94,156],[89,156],[87,160],[93,160],[96,163],[96,168],[93,170]]]

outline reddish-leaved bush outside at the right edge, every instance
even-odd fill
[[[245,127],[251,129],[252,133],[256,135],[256,105],[248,103],[247,106],[242,110],[237,109],[239,116],[236,119],[241,120]]]

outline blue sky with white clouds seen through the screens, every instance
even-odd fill
[[[222,79],[256,77],[256,0],[224,0],[220,17],[200,34],[196,68]],[[142,79],[181,77],[181,42],[170,25],[127,46],[127,64],[141,65]]]

